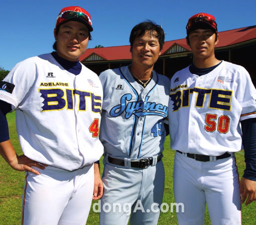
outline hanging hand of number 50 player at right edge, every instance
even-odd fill
[[[240,180],[240,197],[241,203],[246,200],[245,205],[256,201],[256,181],[242,177]]]

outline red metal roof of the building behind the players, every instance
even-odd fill
[[[218,32],[219,42],[216,47],[224,47],[232,44],[241,43],[247,40],[256,38],[256,25],[241,27],[237,29],[231,29]],[[165,41],[161,54],[164,54],[175,43],[179,44],[183,48],[190,50],[190,47],[186,43],[186,38]],[[122,60],[131,59],[130,45],[112,46],[112,47],[100,47],[100,48],[88,48],[86,52],[79,57],[80,61],[88,58],[93,53],[99,55],[105,60]]]

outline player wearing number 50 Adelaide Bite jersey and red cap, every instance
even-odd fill
[[[212,224],[241,224],[241,201],[256,200],[256,90],[245,68],[215,57],[214,16],[193,15],[186,30],[193,64],[172,77],[168,114],[175,200],[184,203],[178,221],[204,224],[207,203]],[[242,144],[239,191],[234,152]]]

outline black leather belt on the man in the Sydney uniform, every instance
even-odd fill
[[[157,156],[157,162],[159,162],[162,158],[162,154]],[[120,158],[112,158],[110,156],[107,157],[108,161],[115,165],[123,165],[124,166],[124,160]],[[131,160],[131,167],[135,168],[148,168],[150,165],[153,164],[153,157],[148,158],[141,158],[141,159],[132,159]]]

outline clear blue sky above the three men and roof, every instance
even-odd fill
[[[162,23],[166,40],[184,38],[188,18],[198,12],[214,15],[218,31],[256,25],[256,0],[2,0],[0,67],[11,70],[25,58],[51,52],[56,17],[70,5],[91,14],[88,48],[127,45],[131,29],[146,19]]]

